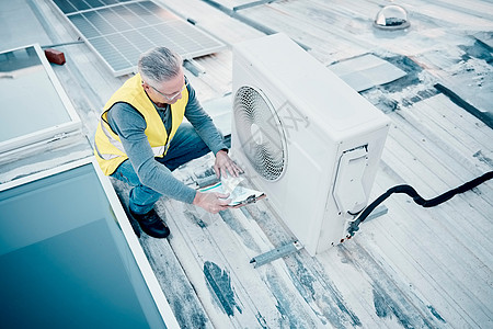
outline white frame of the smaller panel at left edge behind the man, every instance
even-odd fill
[[[8,54],[11,52],[25,49],[27,52],[28,48],[34,48],[43,68],[48,77],[51,87],[55,89],[58,98],[60,99],[67,114],[69,116],[69,121],[61,124],[55,124],[54,126],[41,128],[39,131],[35,131],[22,136],[13,137],[3,141],[0,141],[0,159],[8,158],[12,154],[22,152],[28,148],[36,148],[39,145],[47,144],[49,141],[54,141],[60,138],[64,138],[67,135],[80,134],[82,122],[77,114],[76,109],[73,107],[69,97],[67,95],[65,89],[62,88],[60,81],[58,80],[55,71],[49,65],[48,60],[45,57],[44,52],[42,50],[39,44],[31,44],[26,46],[21,46],[8,50],[0,52],[0,55]],[[9,92],[9,91],[7,91]],[[20,94],[22,97],[22,94]]]

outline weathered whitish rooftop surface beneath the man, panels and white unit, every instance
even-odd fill
[[[400,31],[372,26],[390,3],[378,0],[154,2],[228,46],[186,66],[225,133],[231,45],[282,32],[391,120],[370,201],[403,183],[432,198],[493,170],[490,1],[394,2],[411,23]],[[65,53],[51,66],[87,136],[2,163],[0,183],[90,157],[101,109],[130,76],[114,77],[51,1],[1,0],[0,22],[0,50],[39,43]],[[193,183],[211,163],[206,156],[175,175]],[[125,203],[128,186],[113,183]],[[183,328],[492,328],[493,182],[436,207],[401,194],[385,205],[342,245],[254,268],[252,258],[295,240],[268,200],[208,215],[162,197],[171,236],[141,234],[140,245]]]

